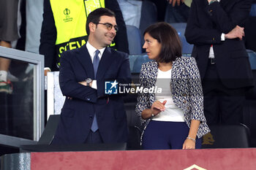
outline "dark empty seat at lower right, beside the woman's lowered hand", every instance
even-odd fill
[[[202,148],[249,147],[249,128],[244,124],[209,125],[211,132],[203,136]]]

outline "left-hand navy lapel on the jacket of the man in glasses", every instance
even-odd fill
[[[86,70],[87,76],[91,79],[94,79],[94,66],[92,65],[91,57],[86,48],[86,45],[80,47],[80,50],[78,51],[78,55],[76,55],[76,57],[82,64],[83,68]]]

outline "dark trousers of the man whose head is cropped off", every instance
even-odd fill
[[[243,122],[245,88],[225,87],[219,79],[216,63],[211,64],[210,61],[202,84],[204,114],[208,124]]]

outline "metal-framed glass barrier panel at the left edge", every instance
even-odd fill
[[[0,47],[0,66],[2,58],[11,62],[7,82],[0,80],[0,134],[38,141],[44,128],[43,56]]]

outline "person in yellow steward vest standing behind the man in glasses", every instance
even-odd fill
[[[86,44],[87,16],[100,7],[116,14],[119,30],[110,47],[129,53],[127,29],[116,0],[45,0],[39,53],[45,55],[46,70],[58,71],[61,53]]]

